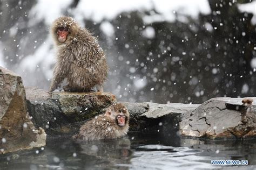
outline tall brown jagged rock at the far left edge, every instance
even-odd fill
[[[45,146],[46,134],[35,129],[26,111],[22,79],[0,67],[0,149],[2,153]]]

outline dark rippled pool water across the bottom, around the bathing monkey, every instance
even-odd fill
[[[248,160],[248,166],[216,166],[211,160]],[[49,138],[46,147],[0,156],[0,169],[256,169],[255,140],[198,140],[166,134],[129,134],[76,143]]]

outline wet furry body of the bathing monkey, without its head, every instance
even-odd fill
[[[120,128],[111,119],[99,115],[81,126],[79,134],[74,138],[80,140],[116,139],[125,136],[128,130],[129,126]]]

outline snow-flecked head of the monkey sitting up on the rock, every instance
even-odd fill
[[[78,30],[78,24],[71,17],[59,17],[52,24],[52,36],[57,45],[63,44],[67,40],[75,37]]]

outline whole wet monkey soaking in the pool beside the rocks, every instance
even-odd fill
[[[80,128],[73,136],[78,140],[106,140],[124,137],[129,130],[130,115],[122,103],[114,103],[105,114],[96,116]]]

